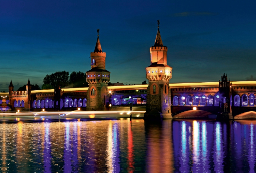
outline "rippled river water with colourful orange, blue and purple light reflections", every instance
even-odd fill
[[[0,124],[1,172],[255,172],[256,120]]]

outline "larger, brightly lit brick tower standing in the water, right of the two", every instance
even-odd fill
[[[172,67],[167,65],[167,47],[163,45],[158,30],[154,46],[150,49],[151,65],[146,68],[147,108],[144,120],[172,118],[169,80],[172,78]]]

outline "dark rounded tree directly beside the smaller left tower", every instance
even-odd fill
[[[88,82],[86,82],[86,74],[81,71],[73,71],[69,75],[69,83],[72,87],[87,87]]]

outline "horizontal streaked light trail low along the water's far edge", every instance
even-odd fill
[[[132,111],[132,117],[143,117],[145,111]],[[130,111],[38,111],[0,113],[0,121],[51,121],[93,118],[127,118]]]

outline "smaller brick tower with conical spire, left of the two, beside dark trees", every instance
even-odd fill
[[[103,52],[98,38],[94,52],[91,52],[91,70],[86,71],[89,88],[87,90],[86,110],[107,110],[108,109],[108,82],[110,72],[105,69],[106,52]]]

